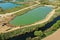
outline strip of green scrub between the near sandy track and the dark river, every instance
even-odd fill
[[[28,32],[28,33],[32,32],[34,30],[37,30],[41,26],[43,26],[43,25],[35,25],[35,26],[31,26],[31,27],[17,29],[17,30],[7,32],[7,33],[1,33],[0,34],[0,40],[6,40],[6,39],[12,38],[12,37],[14,37],[16,35],[25,34],[26,32]]]

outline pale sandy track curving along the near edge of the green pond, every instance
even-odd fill
[[[55,14],[55,9],[53,11],[51,11],[48,16],[46,16],[46,18],[44,20],[41,20],[39,22],[36,22],[34,24],[31,24],[31,25],[26,25],[26,26],[23,26],[23,27],[15,27],[15,28],[12,28],[11,30],[8,30],[8,31],[5,31],[3,33],[6,33],[6,32],[10,32],[10,31],[14,31],[14,30],[17,30],[17,29],[20,29],[20,28],[25,28],[25,27],[30,27],[30,26],[34,26],[34,25],[37,25],[37,24],[42,24],[44,22],[47,22],[48,20],[50,20],[50,18]]]

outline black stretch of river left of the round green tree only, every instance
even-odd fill
[[[9,38],[8,40],[26,40],[26,38],[28,37],[35,37],[34,36],[34,31],[32,32],[29,32],[29,33],[25,33],[25,34],[22,34],[22,35],[19,35],[19,36],[15,36],[13,38]]]

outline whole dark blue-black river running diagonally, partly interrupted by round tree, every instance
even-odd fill
[[[56,23],[57,20],[60,20],[60,16],[56,17],[55,19],[53,19],[52,22],[47,23],[44,27],[39,28],[38,30],[44,31],[44,30],[50,28],[54,23]],[[35,30],[34,30],[34,31],[35,31]],[[23,34],[23,35],[19,35],[19,36],[15,36],[15,37],[9,38],[9,39],[7,39],[7,40],[26,40],[26,38],[28,38],[28,37],[33,38],[33,37],[35,37],[35,36],[34,36],[34,31],[29,32],[29,33],[25,33],[25,34]]]

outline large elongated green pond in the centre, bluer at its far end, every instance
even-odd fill
[[[14,26],[32,24],[44,19],[47,16],[47,14],[49,14],[49,12],[51,11],[52,11],[51,7],[47,6],[38,7],[31,11],[28,11],[24,15],[15,17],[13,20],[10,21],[10,24]]]

